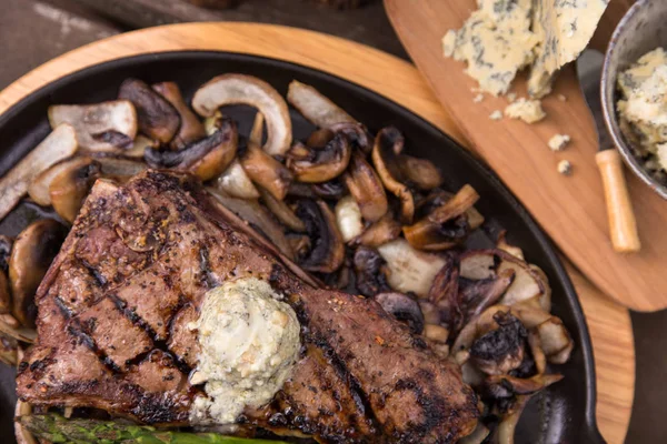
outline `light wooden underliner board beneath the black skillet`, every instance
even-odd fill
[[[0,92],[0,113],[36,89],[84,67],[146,52],[187,49],[271,57],[339,75],[402,104],[465,142],[454,121],[411,64],[330,36],[250,23],[187,23],[152,28],[80,48],[29,72]],[[360,60],[364,63],[359,63]],[[391,75],[387,75],[388,72]],[[568,266],[568,271],[593,337],[598,425],[609,443],[621,443],[629,423],[635,387],[635,349],[628,311],[606,299],[573,266]]]

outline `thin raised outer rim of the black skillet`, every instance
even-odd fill
[[[406,107],[381,95],[378,92],[371,91],[365,87],[361,87],[357,83],[354,83],[349,80],[342,79],[338,75],[315,69],[309,68],[302,64],[288,62],[285,60],[272,59],[268,57],[261,56],[252,56],[252,54],[243,54],[238,52],[230,51],[207,51],[207,50],[178,50],[178,51],[159,51],[152,53],[143,53],[138,56],[122,57],[118,59],[113,59],[107,62],[93,64],[88,68],[83,68],[81,70],[74,71],[57,80],[44,84],[43,87],[32,91],[17,103],[12,104],[9,109],[7,109],[2,114],[0,114],[0,128],[3,128],[7,124],[10,124],[11,121],[19,114],[24,108],[29,107],[32,102],[39,100],[40,97],[44,94],[49,94],[54,90],[58,90],[61,84],[69,83],[72,81],[77,81],[78,79],[84,78],[90,74],[96,74],[99,72],[103,72],[106,70],[110,70],[117,68],[118,65],[127,65],[132,62],[146,62],[151,60],[159,59],[197,59],[198,57],[209,56],[209,57],[221,57],[222,60],[237,60],[241,62],[253,62],[261,61],[262,63],[269,67],[276,67],[281,69],[290,69],[295,72],[308,72],[310,75],[320,78],[323,82],[334,83],[340,88],[348,89],[355,91],[356,94],[371,98],[371,100],[378,102],[381,107],[389,109],[392,113],[404,117],[405,119],[417,120],[418,123],[422,127],[429,128],[431,131],[437,132],[440,137],[442,137],[451,149],[457,150],[458,154],[464,157],[468,162],[470,162],[475,169],[479,171],[479,173],[489,181],[489,183],[496,188],[497,191],[502,194],[502,196],[509,202],[512,210],[518,214],[524,223],[528,226],[531,234],[537,239],[539,246],[546,252],[546,259],[551,262],[554,269],[556,270],[557,278],[563,284],[565,289],[565,295],[569,302],[569,304],[574,309],[574,319],[577,326],[580,329],[580,336],[584,339],[580,344],[577,346],[581,347],[581,352],[584,355],[584,367],[585,367],[585,376],[586,376],[586,405],[585,405],[585,424],[587,426],[586,435],[590,442],[604,443],[598,427],[597,421],[595,416],[595,407],[596,407],[596,379],[595,379],[595,361],[593,357],[593,344],[590,341],[590,334],[588,332],[588,325],[586,323],[586,319],[584,316],[584,311],[579,303],[579,299],[577,293],[575,292],[574,285],[565,271],[560,259],[558,258],[554,244],[547,238],[542,229],[537,224],[537,222],[532,219],[530,213],[526,210],[526,208],[518,201],[518,199],[507,189],[507,186],[500,181],[500,179],[496,175],[496,173],[486,164],[481,163],[477,158],[475,158],[468,150],[462,148],[456,140],[450,138],[447,133],[441,131],[439,128],[430,123],[428,120],[424,119],[421,115],[416,112],[410,111]]]

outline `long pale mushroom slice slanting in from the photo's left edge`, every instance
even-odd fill
[[[73,155],[78,148],[73,127],[63,123],[0,178],[0,220],[19,203],[34,178],[51,165]]]

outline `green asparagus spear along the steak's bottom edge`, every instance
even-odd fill
[[[112,421],[64,418],[56,414],[26,415],[18,421],[34,436],[73,444],[286,444],[280,441],[222,436],[216,433],[160,431]]]

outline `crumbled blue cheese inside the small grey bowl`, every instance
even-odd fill
[[[644,54],[618,75],[620,129],[649,170],[667,171],[667,56]],[[656,161],[653,161],[656,160]]]

